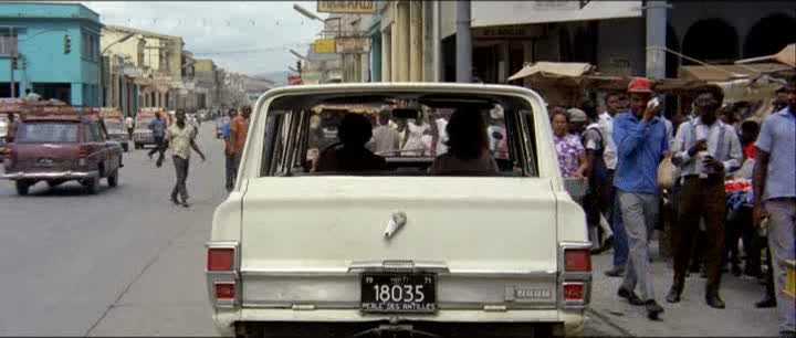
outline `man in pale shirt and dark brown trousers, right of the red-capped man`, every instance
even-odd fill
[[[713,308],[724,308],[719,295],[725,242],[726,194],[724,177],[743,161],[741,141],[735,129],[719,119],[724,101],[722,89],[713,86],[696,97],[700,116],[678,128],[672,148],[672,162],[682,179],[680,221],[672,224],[674,237],[674,276],[667,302],[678,303],[685,284],[692,241],[696,237],[700,219],[704,218],[708,283],[705,302]],[[737,244],[737,243],[736,243]]]

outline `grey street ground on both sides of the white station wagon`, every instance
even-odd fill
[[[86,196],[77,183],[39,183],[18,197],[0,183],[0,335],[214,336],[205,285],[205,242],[214,207],[226,196],[221,142],[206,123],[191,160],[190,209],[172,205],[169,159],[155,168],[146,151],[125,154],[118,188]],[[167,152],[167,158],[168,158]],[[654,256],[654,255],[653,255]],[[654,264],[663,321],[616,297],[606,278],[610,254],[594,257],[595,285],[586,336],[772,336],[773,309],[755,309],[756,281],[725,275],[725,310],[709,308],[703,281],[690,277],[683,302],[662,298],[671,268]],[[699,281],[699,282],[696,282]],[[754,320],[748,320],[755,318]]]

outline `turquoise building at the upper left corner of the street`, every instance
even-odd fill
[[[0,3],[0,97],[27,89],[42,99],[100,106],[100,14],[80,3]]]

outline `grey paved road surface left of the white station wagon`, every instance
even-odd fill
[[[125,154],[119,187],[85,196],[77,183],[17,197],[0,181],[0,335],[216,335],[203,243],[226,192],[219,141],[191,161],[190,209],[168,201],[174,167]]]

